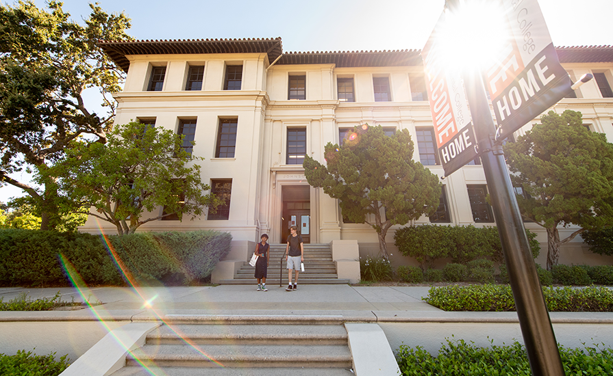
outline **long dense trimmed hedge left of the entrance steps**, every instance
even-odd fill
[[[90,286],[124,285],[118,265],[138,283],[188,284],[210,276],[229,252],[231,241],[230,234],[210,230],[104,238],[78,232],[0,230],[0,286],[67,286],[70,281],[60,255]]]

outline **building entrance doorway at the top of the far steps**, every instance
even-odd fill
[[[287,243],[291,234],[290,227],[296,226],[302,241],[310,243],[311,239],[311,205],[309,186],[286,186],[282,189],[283,213],[281,215],[281,243]]]

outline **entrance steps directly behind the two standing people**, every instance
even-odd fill
[[[288,271],[285,260],[286,244],[271,244],[270,263],[266,284],[287,284]],[[332,252],[328,244],[304,245],[304,271],[299,274],[299,284],[347,284],[349,280],[339,279],[336,264],[332,260]],[[245,262],[234,274],[232,280],[221,280],[219,284],[255,284],[255,267]],[[281,276],[281,282],[279,282]]]

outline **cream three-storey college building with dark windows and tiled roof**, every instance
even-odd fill
[[[114,96],[116,123],[151,122],[193,139],[192,152],[205,158],[202,180],[227,203],[215,215],[154,221],[140,230],[215,229],[230,232],[236,242],[255,242],[266,232],[271,243],[282,243],[293,220],[310,243],[357,241],[360,254],[376,253],[375,231],[366,224],[344,223],[338,202],[308,185],[303,157],[323,161],[327,142],[341,143],[347,129],[368,122],[390,133],[408,129],[416,146],[414,159],[443,174],[431,141],[420,51],[283,53],[280,38],[101,46],[127,72],[123,92]],[[586,126],[613,139],[613,46],[557,51],[573,81],[584,73],[595,79],[577,90],[577,98],[564,98],[553,110],[581,111]],[[415,224],[494,226],[478,163],[442,180],[438,213]],[[527,227],[546,242],[538,226]],[[82,229],[97,228],[90,218]],[[393,252],[394,232],[387,239],[392,259],[400,257]],[[546,253],[545,248],[539,258],[543,265]],[[577,237],[564,247],[560,262],[603,263],[603,257],[586,250]]]

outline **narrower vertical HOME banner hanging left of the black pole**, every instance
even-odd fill
[[[443,13],[421,55],[424,61],[428,101],[434,122],[438,156],[445,176],[477,157],[477,139],[466,105],[466,95],[459,72],[452,72],[442,58],[437,30],[445,22]]]

